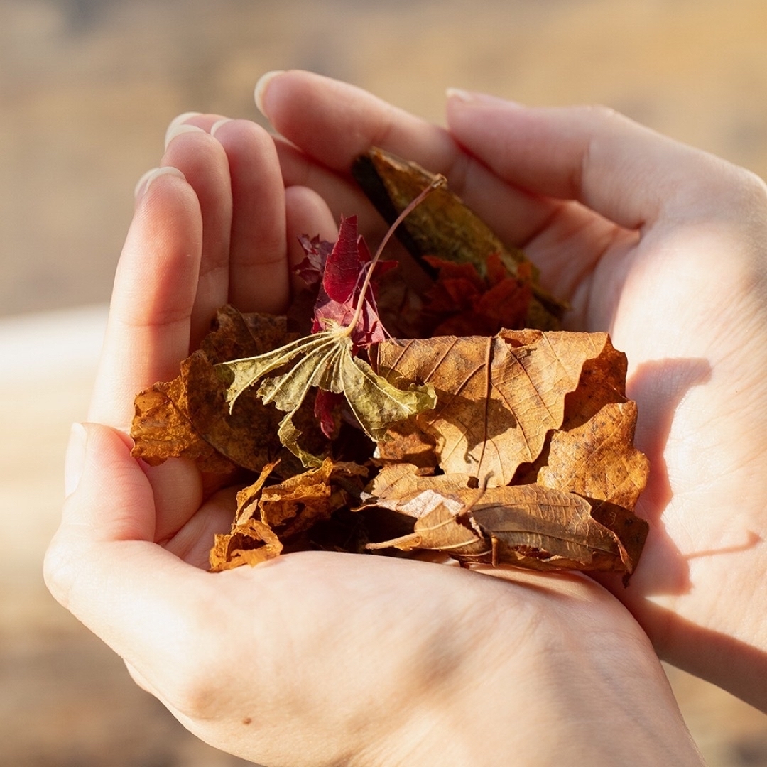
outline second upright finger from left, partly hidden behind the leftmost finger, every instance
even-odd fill
[[[232,187],[223,146],[209,133],[179,125],[170,134],[161,165],[181,170],[195,190],[202,212],[202,258],[192,312],[192,344],[209,328],[216,309],[229,295],[229,242]]]

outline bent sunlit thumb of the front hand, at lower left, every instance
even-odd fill
[[[153,542],[152,488],[122,433],[74,426],[66,469],[68,495],[45,556],[45,582],[94,634],[156,676],[154,667],[170,663],[170,648],[177,649],[169,637],[194,633],[183,630],[186,607],[206,573]]]

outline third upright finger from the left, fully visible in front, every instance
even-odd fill
[[[285,191],[274,141],[249,120],[220,120],[232,183],[229,301],[240,311],[276,313],[289,297]]]

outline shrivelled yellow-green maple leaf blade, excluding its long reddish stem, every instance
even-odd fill
[[[301,432],[295,427],[293,416],[313,387],[343,393],[360,426],[374,440],[383,439],[392,423],[430,410],[436,404],[429,384],[397,388],[377,375],[367,362],[352,357],[352,341],[346,330],[332,328],[267,354],[219,366],[229,370],[233,377],[226,393],[232,412],[242,393],[260,384],[258,397],[287,413],[279,424],[278,436],[304,466],[318,466],[321,459],[298,444]],[[285,372],[280,373],[283,368]]]

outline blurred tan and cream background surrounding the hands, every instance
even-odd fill
[[[0,0],[4,765],[245,763],[134,686],[40,571],[133,185],[176,114],[261,120],[255,81],[291,67],[438,122],[449,86],[608,104],[767,176],[764,0]],[[668,673],[711,767],[767,765],[767,716]]]

